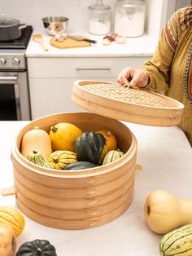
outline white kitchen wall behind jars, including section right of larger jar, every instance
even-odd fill
[[[44,31],[42,17],[64,15],[70,19],[68,30],[87,31],[88,7],[94,2],[96,0],[0,0],[0,13],[19,19],[21,23],[32,24],[33,28],[39,32]],[[113,18],[116,0],[103,0],[103,2],[111,6]],[[172,15],[173,9],[188,3],[190,3],[189,0],[146,0],[146,31],[158,35],[164,22]],[[168,16],[165,17],[162,14]]]

